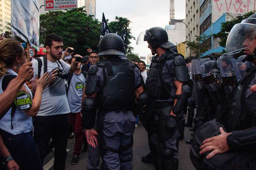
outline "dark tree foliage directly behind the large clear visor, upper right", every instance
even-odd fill
[[[235,19],[232,19],[231,21],[226,21],[221,24],[221,31],[217,34],[213,34],[214,37],[219,37],[220,41],[218,42],[220,46],[226,48],[226,42],[229,35],[229,32],[231,31],[232,27],[240,23],[243,19],[246,19],[250,15],[254,14],[255,12],[250,11],[248,13],[245,13],[243,15],[237,16]]]

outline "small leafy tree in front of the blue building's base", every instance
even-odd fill
[[[205,34],[202,34],[201,36],[195,36],[195,37],[196,37],[195,41],[193,42],[185,41],[184,43],[186,43],[189,46],[189,48],[192,51],[194,51],[195,57],[199,58],[203,55],[203,53],[208,51],[210,44],[206,44],[204,42],[206,42],[206,40],[208,40],[208,38],[210,38],[211,35],[206,36]]]

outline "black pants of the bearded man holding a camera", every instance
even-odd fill
[[[69,131],[68,114],[53,116],[35,116],[34,140],[38,146],[41,161],[54,147],[54,169],[64,170],[67,156],[67,139]],[[49,141],[52,142],[49,145]]]

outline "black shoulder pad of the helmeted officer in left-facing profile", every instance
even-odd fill
[[[174,58],[174,81],[178,80],[183,83],[189,82],[189,70],[186,66],[185,59],[178,55]]]

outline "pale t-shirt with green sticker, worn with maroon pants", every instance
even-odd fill
[[[71,113],[78,113],[81,111],[81,102],[85,83],[86,77],[84,77],[82,73],[79,75],[73,73],[67,93],[67,101]]]

